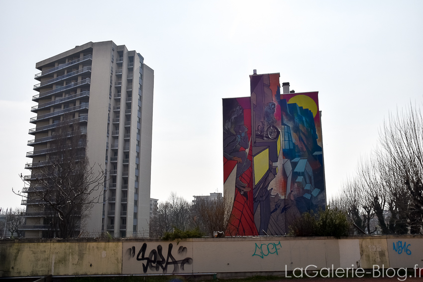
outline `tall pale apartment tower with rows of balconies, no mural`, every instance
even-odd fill
[[[148,236],[150,218],[151,134],[154,71],[136,51],[112,41],[89,42],[38,62],[40,83],[31,108],[36,116],[28,141],[33,151],[25,168],[32,176],[26,204],[25,237],[47,237],[49,226],[39,204],[30,200],[34,168],[49,158],[50,141],[60,120],[67,117],[87,134],[90,165],[106,172],[102,203],[94,204],[79,232],[97,236]],[[100,168],[100,166],[98,166]],[[100,200],[101,201],[101,200]],[[45,213],[44,213],[45,215]],[[77,233],[79,233],[77,232]]]

